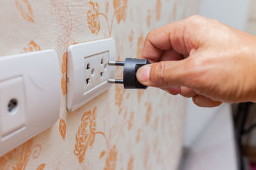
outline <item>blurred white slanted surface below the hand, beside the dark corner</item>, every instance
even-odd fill
[[[236,146],[229,104],[222,104],[190,148],[184,170],[236,170]]]

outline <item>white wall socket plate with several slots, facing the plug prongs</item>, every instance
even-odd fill
[[[115,41],[111,38],[68,46],[67,110],[74,111],[111,87],[116,59]]]

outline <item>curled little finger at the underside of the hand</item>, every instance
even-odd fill
[[[193,103],[195,103],[199,107],[205,107],[205,108],[213,108],[216,106],[220,106],[220,101],[212,101],[212,99],[209,99],[202,95],[197,95],[193,97]]]

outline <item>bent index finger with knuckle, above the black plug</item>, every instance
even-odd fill
[[[204,17],[193,16],[149,32],[142,57],[151,62],[158,62],[163,57],[163,51],[171,49],[187,57],[191,50],[199,47],[200,43],[195,34],[202,28],[202,22],[205,20]]]

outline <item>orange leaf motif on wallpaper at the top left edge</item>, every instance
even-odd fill
[[[28,0],[16,0],[16,7],[25,20],[28,20],[29,22],[35,22],[33,19],[33,11]]]

